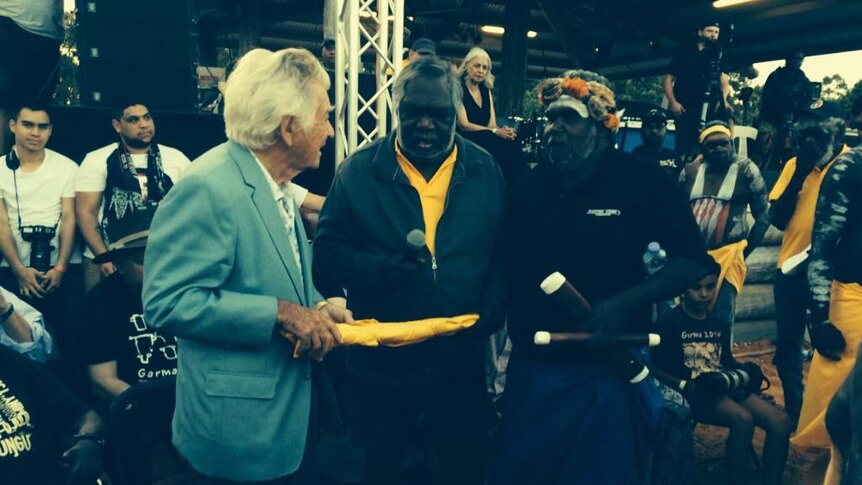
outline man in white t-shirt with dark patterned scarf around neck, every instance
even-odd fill
[[[88,153],[75,180],[78,227],[87,243],[86,290],[116,270],[112,263],[92,264],[107,250],[102,237],[105,221],[158,205],[191,163],[179,150],[153,142],[156,125],[142,103],[123,103],[112,117],[119,142]]]

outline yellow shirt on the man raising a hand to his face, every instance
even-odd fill
[[[850,147],[843,145],[839,155],[843,155],[848,151],[850,151]],[[801,253],[811,244],[811,232],[814,229],[814,209],[817,206],[820,184],[823,182],[823,178],[826,177],[826,172],[831,166],[832,162],[826,164],[822,169],[814,167],[814,170],[805,177],[805,181],[802,183],[802,190],[799,191],[799,198],[796,201],[796,209],[793,210],[793,216],[791,216],[790,222],[787,223],[784,237],[781,240],[781,251],[778,253],[779,268],[787,258]],[[775,182],[775,186],[772,187],[772,191],[769,192],[769,202],[778,200],[784,194],[795,172],[796,157],[793,157],[784,164],[781,175]]]

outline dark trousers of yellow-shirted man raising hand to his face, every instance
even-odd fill
[[[795,425],[802,409],[802,341],[811,303],[806,272],[788,276],[777,270],[773,292],[776,336],[772,362],[784,388],[784,407],[791,425]]]

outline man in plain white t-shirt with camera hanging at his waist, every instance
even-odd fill
[[[15,145],[0,158],[0,285],[44,314],[62,349],[68,335],[56,330],[63,327],[66,301],[80,286],[75,281],[80,273],[68,273],[75,246],[78,166],[45,148],[52,127],[44,106],[19,108],[9,128]],[[47,243],[44,249],[39,249],[39,239]]]

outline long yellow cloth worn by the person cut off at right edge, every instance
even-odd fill
[[[790,442],[797,446],[829,448],[831,441],[826,433],[826,408],[856,363],[856,351],[862,340],[862,285],[858,283],[832,282],[832,298],[829,302],[829,320],[841,334],[847,346],[835,362],[814,353],[805,393],[802,397],[802,412],[796,436]]]

